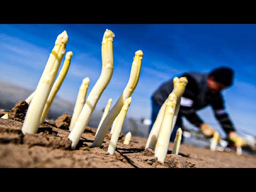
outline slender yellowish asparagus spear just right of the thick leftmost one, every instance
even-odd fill
[[[72,56],[73,56],[73,52],[71,52],[71,51],[67,52],[65,61],[63,63],[63,66],[60,70],[60,73],[59,73],[56,81],[54,82],[54,84],[52,86],[52,90],[51,90],[51,92],[49,94],[49,97],[46,101],[46,104],[45,104],[45,107],[44,107],[44,110],[43,110],[43,114],[42,114],[42,117],[41,117],[41,120],[40,120],[41,123],[44,122],[45,117],[48,114],[49,109],[52,105],[52,102],[53,102],[56,94],[60,90],[60,87],[61,87],[65,77],[67,76]]]

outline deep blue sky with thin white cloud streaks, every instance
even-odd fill
[[[90,78],[89,95],[100,76],[106,29],[115,34],[114,73],[95,109],[105,108],[109,98],[114,106],[129,80],[135,52],[142,50],[141,75],[127,116],[150,118],[151,94],[174,75],[228,66],[235,70],[235,84],[223,91],[227,111],[239,132],[256,135],[256,25],[0,24],[0,81],[35,90],[55,39],[66,30],[73,58],[58,97],[75,103],[83,78]],[[210,107],[198,114],[225,135]]]

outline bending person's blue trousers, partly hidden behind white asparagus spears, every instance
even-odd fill
[[[156,121],[156,117],[158,115],[158,112],[161,108],[161,105],[159,105],[154,99],[153,97],[151,97],[151,125],[149,126],[149,129],[148,129],[148,135]],[[175,126],[173,127],[173,131],[172,131],[172,134],[171,134],[171,138],[170,138],[170,141],[174,141],[175,137],[176,137],[176,132],[177,130],[179,129],[179,127],[181,127],[182,129],[182,119],[181,119],[181,116],[178,115],[177,117],[177,120],[176,120],[176,123],[175,123]],[[181,142],[183,142],[183,135],[182,135],[182,139],[181,139]]]

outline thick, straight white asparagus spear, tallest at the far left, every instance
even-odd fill
[[[38,130],[45,103],[49,97],[55,77],[57,76],[62,58],[66,52],[67,43],[68,35],[66,31],[63,31],[55,41],[55,46],[51,51],[41,79],[36,87],[33,99],[28,107],[21,129],[23,134],[34,134]]]

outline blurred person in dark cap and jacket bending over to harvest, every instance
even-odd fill
[[[222,95],[223,90],[233,85],[234,70],[229,67],[218,67],[210,73],[193,71],[178,75],[178,77],[187,77],[188,84],[181,97],[179,114],[170,141],[174,141],[177,129],[182,128],[182,116],[198,127],[206,138],[211,138],[215,131],[214,128],[205,123],[196,113],[197,110],[210,105],[215,118],[226,133],[226,140],[229,144],[245,146],[245,140],[237,134],[228,112],[225,110],[225,99]],[[162,83],[151,96],[151,125],[148,134],[156,120],[159,109],[173,90],[173,78]],[[182,141],[183,139],[182,137]]]

